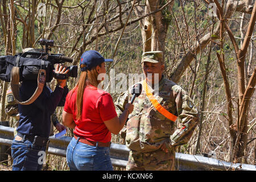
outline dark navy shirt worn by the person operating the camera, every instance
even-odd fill
[[[37,86],[36,81],[23,81],[19,89],[20,98],[23,101],[28,100]],[[67,93],[67,87],[63,89],[56,86],[54,92],[52,92],[48,86],[44,85],[42,93],[32,104],[18,105],[20,118],[17,131],[23,135],[49,137],[51,114],[53,114],[57,106],[64,106],[62,102],[65,101]]]

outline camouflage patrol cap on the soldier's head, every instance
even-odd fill
[[[143,62],[163,63],[163,51],[148,51],[142,54],[141,64]]]

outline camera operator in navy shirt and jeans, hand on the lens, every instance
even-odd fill
[[[55,73],[66,74],[68,70],[57,65]],[[51,129],[51,114],[57,106],[63,106],[68,93],[67,80],[57,80],[52,92],[44,85],[40,96],[30,105],[18,105],[20,119],[17,135],[11,146],[13,171],[39,171],[42,157],[46,158],[46,147]],[[28,100],[37,88],[37,81],[23,81],[19,89],[22,100]],[[60,103],[61,102],[61,103]],[[61,104],[61,105],[59,105]]]

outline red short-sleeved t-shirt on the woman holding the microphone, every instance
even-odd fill
[[[81,119],[76,119],[77,89],[66,97],[64,111],[73,114],[76,123],[74,134],[96,142],[110,142],[111,133],[104,124],[117,117],[113,99],[108,92],[94,86],[86,86],[83,96]]]

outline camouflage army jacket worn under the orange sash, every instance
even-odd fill
[[[172,122],[159,113],[142,89],[141,95],[135,98],[134,110],[129,114],[129,120],[120,133],[124,138],[123,132],[126,130],[126,146],[132,151],[151,152],[158,150],[165,142],[170,151],[174,150],[173,146],[187,143],[199,121],[199,113],[191,98],[179,85],[164,77],[159,82],[159,92],[152,90],[150,85],[148,88],[159,104],[178,118]],[[130,98],[128,91],[117,98],[115,107],[118,115],[122,114]]]

